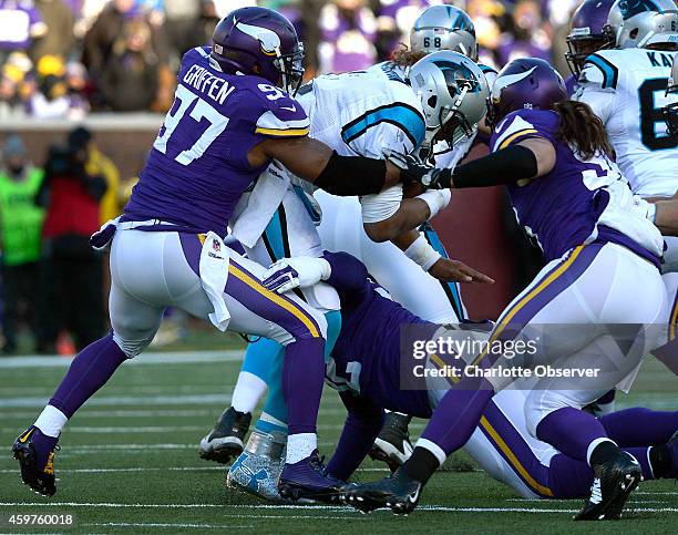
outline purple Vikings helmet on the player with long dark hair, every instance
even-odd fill
[[[496,125],[516,110],[552,110],[566,100],[565,82],[553,66],[537,58],[522,58],[500,71],[492,86],[489,122]]]

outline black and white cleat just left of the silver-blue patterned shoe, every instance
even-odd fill
[[[217,423],[198,447],[201,459],[227,464],[245,449],[245,435],[249,430],[251,414],[238,412],[233,407],[225,410]]]

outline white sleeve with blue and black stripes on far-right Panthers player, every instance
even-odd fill
[[[579,76],[579,90],[573,100],[588,104],[594,113],[607,124],[615,109],[616,88],[619,73],[605,58],[593,54]]]

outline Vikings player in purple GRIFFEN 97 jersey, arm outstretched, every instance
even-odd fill
[[[23,482],[34,491],[54,494],[61,430],[122,362],[143,351],[170,306],[222,331],[285,346],[290,434],[280,485],[309,496],[336,487],[321,472],[315,434],[326,321],[298,297],[266,290],[264,268],[223,240],[243,192],[273,158],[345,195],[377,194],[400,179],[383,160],[339,156],[307,136],[308,117],[287,93],[300,82],[301,58],[291,23],[264,8],[234,11],[217,24],[212,48],[185,54],[174,105],[123,216],[93,237],[100,247],[112,243],[113,332],[75,357],[13,445]]]

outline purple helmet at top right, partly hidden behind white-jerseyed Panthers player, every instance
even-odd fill
[[[608,23],[615,0],[585,0],[572,16],[565,53],[569,70],[578,78],[586,58],[603,49],[615,47],[616,29]]]

